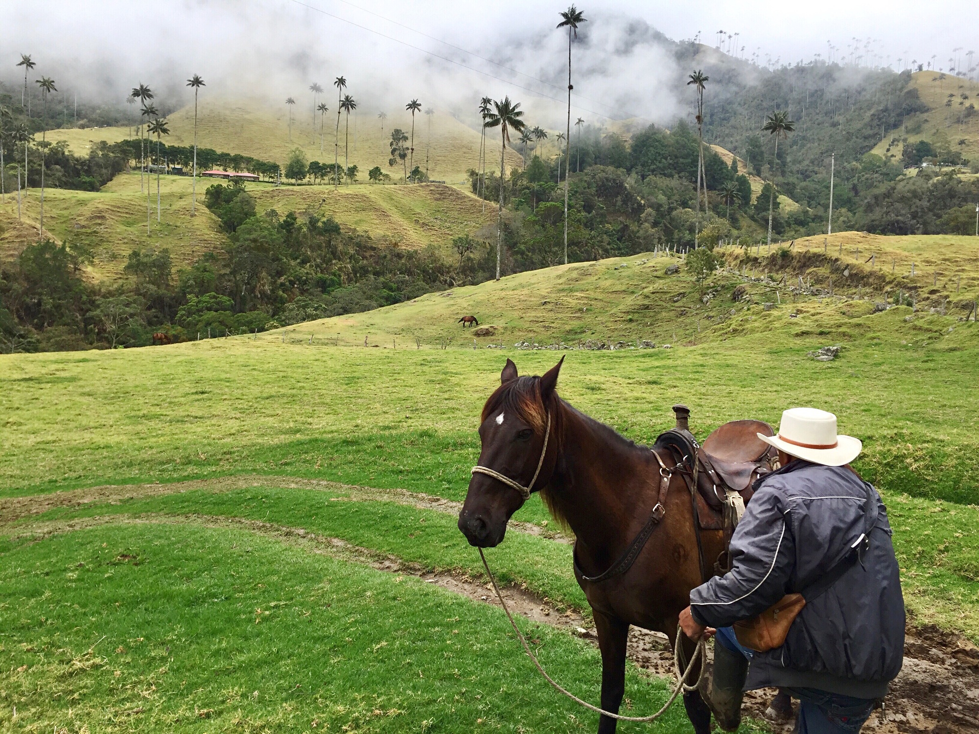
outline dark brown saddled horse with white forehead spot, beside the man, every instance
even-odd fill
[[[479,465],[513,483],[474,473],[459,529],[471,545],[498,545],[539,469],[532,488],[539,488],[551,515],[575,533],[575,575],[591,606],[601,649],[601,708],[618,712],[629,625],[662,632],[672,643],[690,589],[702,583],[697,530],[683,478],[670,471],[661,474],[664,464],[676,467],[673,452],[636,445],[573,408],[555,391],[560,370],[558,362],[543,377],[518,377],[516,365],[506,360],[501,385],[483,408]],[[661,519],[628,571],[588,580],[618,566],[654,512],[662,512]],[[722,532],[704,531],[701,540],[703,556],[717,558]],[[694,644],[684,640],[689,659]],[[697,734],[709,734],[711,713],[700,694],[684,694],[683,704]],[[599,734],[615,729],[615,719],[599,718]]]

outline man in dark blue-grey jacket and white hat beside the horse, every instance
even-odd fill
[[[690,592],[680,625],[693,639],[717,631],[702,694],[724,729],[740,722],[743,690],[778,687],[801,702],[798,734],[852,734],[904,657],[905,605],[886,509],[849,468],[862,444],[837,435],[832,413],[792,408],[777,436],[759,437],[778,449],[781,469],[755,482],[731,538],[731,571]],[[764,652],[743,647],[732,625],[793,592],[806,605],[785,642]]]

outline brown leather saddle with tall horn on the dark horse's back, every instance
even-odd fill
[[[671,450],[677,469],[693,495],[697,524],[703,530],[722,530],[724,547],[730,542],[752,484],[778,468],[777,452],[758,437],[773,436],[764,421],[730,421],[707,436],[703,444],[690,433],[690,409],[674,405],[676,426],[661,434],[655,448]],[[694,485],[696,490],[694,490]],[[715,573],[729,570],[727,553],[715,564]]]

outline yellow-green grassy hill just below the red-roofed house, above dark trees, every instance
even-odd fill
[[[204,190],[212,179],[198,181],[197,215],[190,215],[191,179],[161,176],[162,215],[157,223],[156,177],[149,181],[151,220],[146,228],[146,193],[140,193],[138,173],[118,175],[99,192],[47,189],[44,194],[46,233],[58,241],[89,245],[95,251],[91,274],[118,278],[129,252],[152,245],[169,248],[174,266],[187,265],[226,241],[217,219],[203,206]],[[307,208],[330,214],[342,225],[389,238],[403,247],[448,245],[452,237],[472,233],[495,214],[489,203],[440,184],[417,186],[352,185],[282,186],[249,183],[258,211],[276,208],[285,213]],[[40,190],[29,190],[18,221],[17,196],[0,206],[0,257],[12,258],[37,238]],[[322,206],[320,206],[322,205]]]

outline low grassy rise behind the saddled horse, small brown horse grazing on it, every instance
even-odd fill
[[[364,344],[366,337],[368,344],[385,348],[414,348],[415,339],[429,345],[451,340],[481,347],[519,341],[576,345],[587,340],[676,345],[793,325],[794,331],[815,328],[834,339],[832,335],[850,330],[847,325],[853,319],[868,316],[885,292],[894,302],[900,292],[913,291],[920,310],[940,308],[947,300],[946,312],[956,317],[964,316],[979,295],[979,240],[974,237],[844,232],[797,240],[784,255],[775,247],[770,253],[765,247],[761,251],[723,249],[731,272],[709,284],[706,304],[682,267],[679,273],[666,274],[669,265],[681,264],[680,259],[645,253],[519,273],[375,311],[299,324],[258,339],[313,336],[314,341]],[[871,255],[873,267],[866,262]],[[742,268],[747,277],[739,274]],[[789,290],[800,276],[808,296],[794,296]],[[831,279],[833,298],[821,298],[822,292],[828,296]],[[746,308],[743,299],[732,300],[738,287],[747,290],[753,305]],[[774,307],[763,310],[764,302]],[[457,323],[470,314],[489,327],[489,334],[476,337],[474,330]]]

